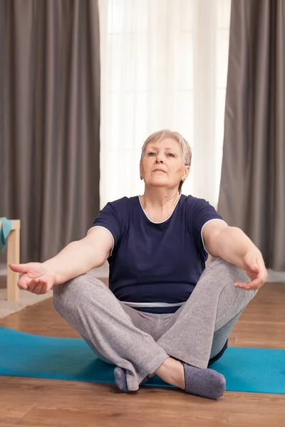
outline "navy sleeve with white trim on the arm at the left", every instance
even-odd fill
[[[103,227],[106,228],[113,237],[113,246],[118,244],[120,240],[120,221],[118,218],[118,212],[113,206],[112,202],[109,202],[105,205],[103,209],[100,210],[97,218],[93,222],[93,226],[89,228],[90,231],[94,227]]]

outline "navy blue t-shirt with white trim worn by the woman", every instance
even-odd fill
[[[202,227],[222,217],[204,199],[180,196],[169,218],[147,218],[140,199],[109,202],[93,226],[113,236],[109,288],[118,300],[137,310],[175,312],[190,297],[207,260]]]

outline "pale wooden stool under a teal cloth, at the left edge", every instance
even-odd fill
[[[19,300],[18,280],[19,273],[10,270],[9,264],[20,262],[20,223],[19,219],[12,219],[12,228],[7,237],[7,301]],[[0,221],[0,226],[1,226]]]

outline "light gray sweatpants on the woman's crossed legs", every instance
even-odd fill
[[[167,357],[207,368],[257,290],[236,288],[247,273],[218,258],[207,265],[187,302],[175,313],[139,312],[120,302],[89,273],[53,288],[57,312],[105,362],[127,370],[128,389]]]

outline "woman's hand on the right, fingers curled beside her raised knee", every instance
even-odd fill
[[[257,290],[266,282],[267,270],[261,253],[248,251],[243,259],[244,270],[251,279],[251,282],[236,282],[234,286],[247,290]]]

